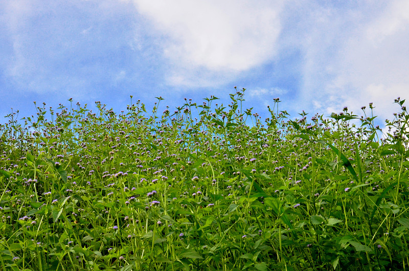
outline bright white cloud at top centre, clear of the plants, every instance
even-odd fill
[[[163,53],[170,60],[171,84],[221,83],[211,79],[220,73],[226,82],[276,54],[283,1],[133,2],[165,37]]]

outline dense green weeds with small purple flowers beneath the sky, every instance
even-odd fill
[[[372,103],[289,116],[277,98],[261,120],[244,92],[6,116],[0,269],[409,270],[404,100],[381,129]]]

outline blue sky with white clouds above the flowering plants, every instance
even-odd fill
[[[67,101],[159,111],[246,88],[262,120],[375,106],[379,124],[409,98],[409,1],[0,1],[0,123]],[[409,101],[408,101],[409,102]]]

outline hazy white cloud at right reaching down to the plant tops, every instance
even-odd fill
[[[378,120],[390,119],[399,110],[394,99],[409,94],[409,2],[304,10],[312,15],[292,25],[298,29],[289,30],[293,42],[287,41],[303,55],[297,106],[326,113],[348,106],[360,115],[373,102]]]

